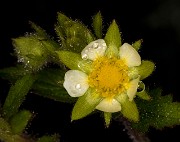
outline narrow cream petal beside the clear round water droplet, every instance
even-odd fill
[[[139,77],[132,80],[129,84],[129,88],[127,90],[127,95],[129,97],[129,101],[132,101],[136,95],[137,88],[139,83]]]

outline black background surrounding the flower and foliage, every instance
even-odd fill
[[[0,68],[14,66],[11,38],[31,32],[29,21],[54,33],[57,12],[63,12],[72,19],[79,19],[91,27],[92,16],[101,11],[105,28],[113,19],[122,32],[123,42],[132,43],[143,39],[140,50],[142,59],[156,63],[156,71],[147,79],[151,85],[163,88],[164,94],[173,94],[180,102],[177,91],[178,49],[180,47],[180,1],[179,0],[27,0],[0,2]],[[1,80],[1,99],[9,89],[7,81]],[[105,129],[103,119],[95,114],[76,122],[70,122],[72,106],[29,94],[23,106],[36,116],[27,129],[29,134],[59,133],[61,142],[72,141],[127,141],[131,142],[124,126],[112,122]],[[161,140],[179,142],[180,127],[163,130],[150,129],[148,137],[152,142]]]

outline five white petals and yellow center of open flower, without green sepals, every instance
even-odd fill
[[[121,104],[116,96],[127,95],[129,101],[132,101],[136,95],[140,77],[131,77],[130,68],[141,65],[141,57],[128,43],[119,47],[119,57],[106,56],[107,48],[103,39],[89,43],[82,50],[81,57],[92,61],[92,71],[86,74],[79,70],[69,70],[63,85],[72,97],[80,97],[89,88],[94,88],[102,97],[96,109],[118,112]]]

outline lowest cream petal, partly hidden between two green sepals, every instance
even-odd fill
[[[118,112],[121,110],[121,104],[115,99],[105,98],[96,106],[96,109],[104,112]]]

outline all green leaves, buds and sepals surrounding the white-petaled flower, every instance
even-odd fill
[[[93,16],[94,33],[92,33],[82,22],[72,20],[58,12],[54,28],[59,41],[55,41],[44,29],[33,22],[30,22],[30,25],[34,32],[12,39],[20,64],[0,70],[0,77],[12,84],[1,108],[0,140],[31,141],[31,138],[22,136],[33,114],[28,110],[20,110],[29,91],[55,101],[74,103],[72,120],[84,118],[95,110],[102,100],[95,90],[89,89],[85,95],[76,99],[67,95],[63,82],[64,74],[68,69],[81,70],[87,74],[92,70],[92,62],[82,60],[80,52],[96,38],[103,38],[102,20],[100,12]],[[115,20],[107,29],[104,40],[108,46],[107,56],[119,56],[118,48],[122,45],[122,39]],[[132,46],[138,51],[141,43],[142,40],[137,40]],[[155,64],[152,61],[143,60],[139,67],[130,69],[129,76],[137,78],[140,74],[140,80],[143,80],[150,76],[154,69]],[[140,91],[137,92],[138,97],[134,101],[129,101],[126,95],[117,95],[116,98],[122,107],[121,114],[131,121],[132,128],[148,132],[150,127],[163,129],[180,124],[180,103],[173,102],[171,95],[162,96],[162,90],[159,88],[147,91],[142,82],[139,83],[138,89]],[[107,127],[112,117],[111,113],[104,113]],[[44,135],[33,141],[58,142],[59,135]]]

